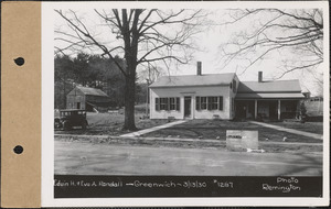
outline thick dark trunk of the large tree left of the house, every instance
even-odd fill
[[[136,76],[129,75],[126,77],[125,86],[125,124],[124,130],[137,130],[135,124],[135,92],[136,92]]]

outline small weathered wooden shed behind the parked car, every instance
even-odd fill
[[[114,101],[97,88],[76,86],[66,96],[66,109],[107,111]]]

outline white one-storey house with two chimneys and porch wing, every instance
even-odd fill
[[[285,119],[303,98],[299,80],[241,82],[236,74],[166,76],[149,86],[150,119]]]

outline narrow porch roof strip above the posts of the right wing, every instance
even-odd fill
[[[305,96],[301,92],[281,92],[281,94],[268,94],[268,92],[250,92],[250,94],[237,94],[236,99],[302,99]]]

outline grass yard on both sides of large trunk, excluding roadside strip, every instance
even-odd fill
[[[138,130],[149,129],[161,125],[168,120],[149,120],[146,118],[146,106],[136,106],[136,127]],[[85,135],[114,135],[118,136],[129,131],[122,131],[124,111],[115,113],[87,113],[88,129],[75,129],[71,131],[55,131],[57,134],[85,134]],[[270,122],[284,128],[301,130],[311,133],[323,133],[322,122]],[[284,131],[264,128],[249,122],[234,122],[221,120],[190,120],[185,123],[178,124],[168,129],[158,130],[147,133],[142,136],[148,138],[181,138],[181,139],[210,139],[226,140],[226,130],[257,130],[259,141],[282,142],[286,138],[287,142],[321,142],[303,135],[297,135]]]

